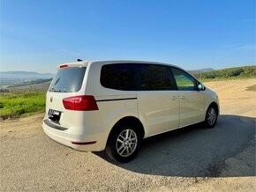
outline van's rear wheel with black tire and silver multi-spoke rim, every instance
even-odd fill
[[[126,163],[136,157],[141,141],[141,133],[135,124],[121,123],[110,132],[106,152],[110,159]]]

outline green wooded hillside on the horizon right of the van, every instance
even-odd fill
[[[255,78],[256,66],[236,67],[224,70],[212,70],[207,72],[194,72],[193,75],[202,81],[222,80],[229,78]]]

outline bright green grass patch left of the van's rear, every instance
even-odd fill
[[[43,112],[45,108],[45,92],[1,92],[0,116],[20,117],[35,112]]]

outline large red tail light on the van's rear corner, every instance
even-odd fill
[[[99,110],[96,100],[92,95],[79,95],[63,100],[64,108],[74,111],[94,111]]]

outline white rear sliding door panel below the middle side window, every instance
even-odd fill
[[[179,100],[177,91],[138,92],[139,120],[143,122],[145,137],[170,129],[179,122]]]

